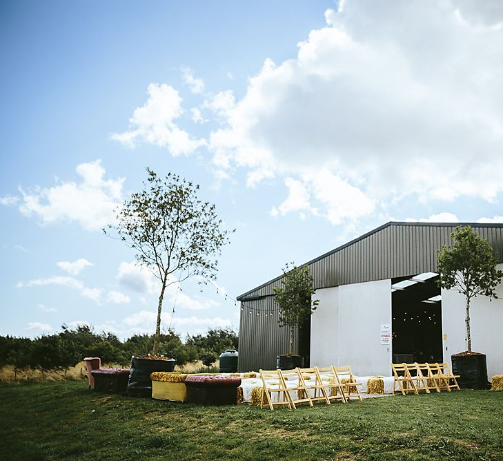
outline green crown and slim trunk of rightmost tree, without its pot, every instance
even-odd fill
[[[453,245],[442,245],[442,250],[438,251],[438,283],[465,297],[466,350],[471,351],[470,301],[479,294],[489,299],[497,298],[495,288],[503,272],[496,269],[497,259],[489,242],[470,226],[457,226],[451,238]]]

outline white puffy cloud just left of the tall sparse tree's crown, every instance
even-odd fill
[[[59,182],[55,187],[23,191],[19,210],[41,222],[75,222],[84,229],[99,230],[111,223],[122,200],[124,178],[106,180],[101,160],[77,166],[80,182]]]

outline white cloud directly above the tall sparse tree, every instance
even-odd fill
[[[188,133],[175,123],[184,113],[178,91],[166,84],[150,84],[147,89],[147,102],[135,109],[130,118],[130,131],[114,133],[112,139],[135,147],[143,140],[159,147],[167,147],[171,155],[188,155],[201,147],[204,140],[192,139]]]

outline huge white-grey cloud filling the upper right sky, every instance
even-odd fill
[[[297,57],[266,59],[241,100],[223,91],[206,102],[221,120],[208,144],[221,177],[239,167],[248,185],[286,176],[296,189],[272,213],[323,208],[332,223],[404,196],[495,200],[503,27],[470,16],[490,18],[487,3],[462,3],[353,0],[328,11]]]

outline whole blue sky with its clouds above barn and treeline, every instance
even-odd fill
[[[6,0],[0,59],[0,335],[154,332],[101,232],[147,167],[236,229],[215,285],[168,289],[181,337],[390,220],[503,222],[500,0]]]

